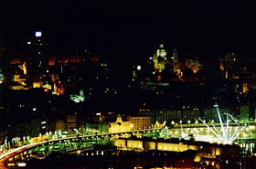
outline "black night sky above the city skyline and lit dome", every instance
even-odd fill
[[[34,30],[55,51],[149,57],[161,41],[190,55],[254,52],[256,3],[221,1],[3,0],[5,45]]]

